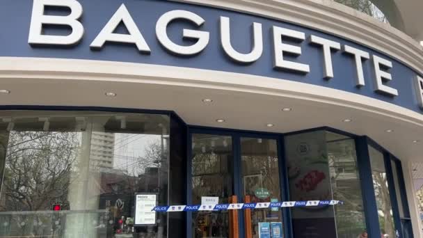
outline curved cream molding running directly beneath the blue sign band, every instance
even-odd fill
[[[0,57],[1,79],[116,81],[289,97],[345,106],[423,127],[423,115],[372,97],[287,79],[166,65],[58,58]],[[36,102],[35,102],[36,103]]]

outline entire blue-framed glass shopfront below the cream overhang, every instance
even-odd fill
[[[366,136],[186,127],[173,113],[3,114],[0,237],[412,237],[401,162]],[[328,200],[343,203],[301,205]],[[287,201],[298,205],[246,208]],[[214,206],[231,203],[244,207]]]

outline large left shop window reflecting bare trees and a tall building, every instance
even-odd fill
[[[148,193],[168,205],[168,116],[11,114],[0,123],[0,236],[167,236],[165,213],[134,224],[134,198]]]

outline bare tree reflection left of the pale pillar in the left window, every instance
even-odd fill
[[[71,132],[11,132],[0,209],[49,210],[51,203],[65,203],[79,138]]]

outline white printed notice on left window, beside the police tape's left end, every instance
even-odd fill
[[[152,212],[156,205],[156,194],[137,193],[135,195],[134,225],[156,225],[156,212]]]

